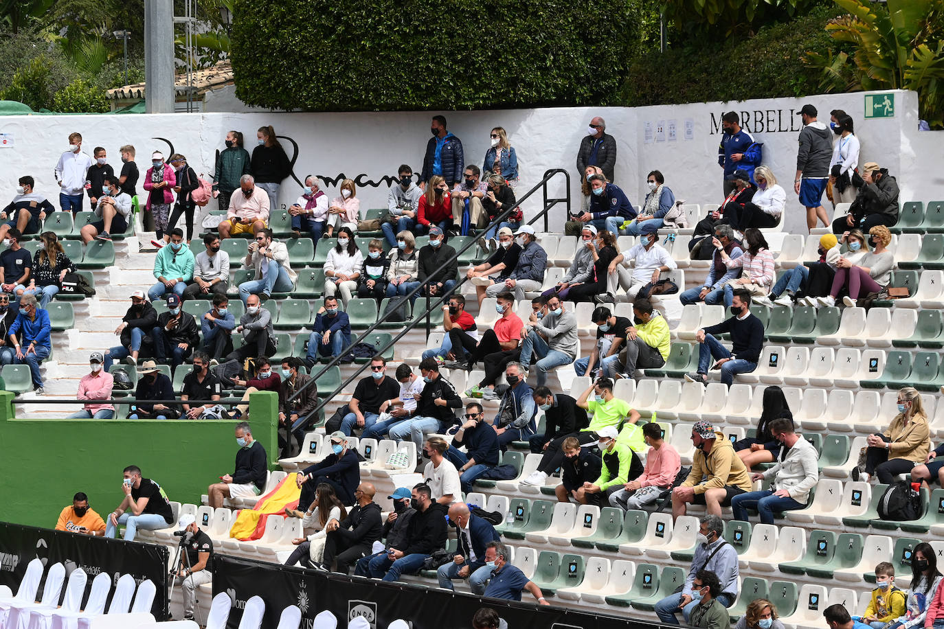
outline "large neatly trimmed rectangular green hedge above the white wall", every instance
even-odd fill
[[[642,4],[237,0],[236,95],[311,110],[615,105]]]

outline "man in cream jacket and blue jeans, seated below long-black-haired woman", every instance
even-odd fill
[[[769,480],[770,488],[734,496],[731,508],[735,520],[748,521],[748,509],[757,511],[761,523],[773,524],[774,513],[806,507],[810,490],[819,481],[817,449],[797,434],[793,421],[780,418],[770,422],[770,432],[782,444],[776,464],[767,471],[750,474],[751,481]]]

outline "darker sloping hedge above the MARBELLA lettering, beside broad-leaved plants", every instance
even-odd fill
[[[840,12],[825,5],[792,22],[761,28],[753,37],[685,41],[662,55],[639,56],[626,75],[621,104],[639,107],[819,93],[821,74],[804,66],[801,57],[834,45],[825,25]]]

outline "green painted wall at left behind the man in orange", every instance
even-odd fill
[[[179,503],[200,504],[219,476],[233,472],[236,422],[183,420],[20,420],[13,394],[0,391],[0,520],[54,527],[76,491],[103,518],[122,501],[122,470],[141,468]],[[254,393],[253,437],[278,459],[278,395]],[[263,419],[264,418],[264,419]]]

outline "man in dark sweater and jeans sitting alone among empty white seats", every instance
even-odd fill
[[[731,387],[738,373],[750,373],[757,369],[764,349],[764,323],[750,312],[750,292],[735,289],[732,292],[731,317],[721,323],[701,328],[695,333],[699,343],[699,367],[694,373],[686,373],[688,382],[708,384],[708,367],[712,358],[716,362],[712,369],[721,370],[721,384]],[[729,350],[714,335],[727,332],[733,347]]]

